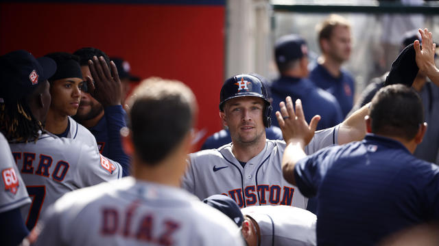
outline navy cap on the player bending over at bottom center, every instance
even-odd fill
[[[232,219],[237,226],[241,226],[244,221],[244,215],[241,213],[238,204],[227,195],[211,195],[203,200],[203,202],[213,208],[224,213]]]

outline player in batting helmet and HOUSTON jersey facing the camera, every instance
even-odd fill
[[[306,208],[307,199],[282,176],[285,141],[265,138],[272,110],[265,85],[257,77],[240,74],[226,80],[219,97],[219,115],[223,125],[229,128],[232,143],[190,154],[182,187],[200,200],[214,194],[228,195],[241,208],[255,205]],[[365,135],[366,114],[364,107],[346,122],[319,131],[306,152],[361,139]],[[311,128],[315,129],[317,122],[318,117],[311,121]]]

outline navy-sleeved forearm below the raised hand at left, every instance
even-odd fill
[[[128,156],[122,147],[120,130],[126,126],[125,113],[121,105],[115,105],[105,108],[105,117],[108,130],[108,158],[117,161],[122,169],[123,176],[130,174],[130,156]]]

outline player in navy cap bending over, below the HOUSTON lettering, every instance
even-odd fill
[[[233,219],[249,246],[317,245],[317,217],[302,208],[268,205],[239,210],[226,195],[211,195],[203,202]]]

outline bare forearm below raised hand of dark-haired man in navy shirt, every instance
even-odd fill
[[[294,167],[300,159],[307,156],[307,154],[305,154],[304,148],[305,144],[303,143],[303,141],[290,141],[289,143],[287,143],[285,152],[283,152],[283,178],[285,178],[287,182],[293,185],[296,185],[296,179],[294,178]]]

